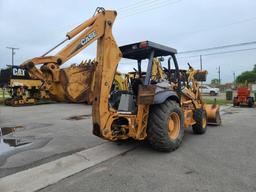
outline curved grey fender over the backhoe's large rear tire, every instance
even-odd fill
[[[165,91],[159,91],[155,94],[154,97],[154,103],[153,104],[160,104],[166,101],[166,99],[171,98],[172,100],[175,100],[177,103],[180,104],[180,99],[176,92],[165,90]]]

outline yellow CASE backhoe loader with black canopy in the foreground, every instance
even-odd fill
[[[182,142],[184,127],[191,125],[195,134],[205,133],[205,109],[200,108],[198,112],[194,108],[193,113],[183,111],[181,77],[175,57],[177,51],[150,41],[118,47],[112,35],[116,15],[116,11],[98,8],[91,19],[67,34],[68,39],[79,34],[68,48],[55,56],[31,59],[23,66],[38,76],[49,76],[45,86],[50,89],[52,84],[60,82],[58,67],[97,40],[93,134],[110,141],[147,139],[156,150],[173,151]],[[152,79],[154,57],[171,58],[168,59],[168,71],[171,70],[172,60],[175,66],[174,78],[169,77],[168,81],[159,83]],[[129,79],[127,90],[113,91],[114,77],[121,58],[136,61],[138,75]],[[146,73],[141,71],[142,60],[148,61]],[[43,64],[41,70],[35,67],[37,64]]]

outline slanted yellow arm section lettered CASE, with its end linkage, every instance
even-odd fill
[[[59,78],[55,77],[59,75],[58,73],[55,73],[56,69],[58,70],[60,65],[77,55],[95,40],[102,37],[105,28],[105,13],[106,12],[104,10],[100,9],[98,14],[77,26],[72,31],[68,32],[66,35],[66,40],[76,38],[62,50],[60,50],[56,55],[45,56],[49,53],[47,52],[42,57],[35,57],[25,61],[23,64],[21,64],[21,67],[26,68],[33,76],[36,76],[41,80],[45,80],[45,77],[42,75],[43,73],[50,72],[53,76],[53,80],[58,81]],[[59,45],[61,45],[61,43]],[[50,51],[52,50],[53,49]],[[41,70],[35,67],[35,65],[39,64],[43,64]]]

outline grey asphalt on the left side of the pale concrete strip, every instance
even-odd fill
[[[1,154],[1,147],[7,145],[1,139],[0,178],[106,142],[92,135],[91,106],[85,104],[1,105],[3,127],[15,128],[4,139],[29,144],[10,147]]]

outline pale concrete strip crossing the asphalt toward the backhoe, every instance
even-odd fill
[[[31,192],[97,165],[135,147],[104,143],[0,179],[1,192]]]

